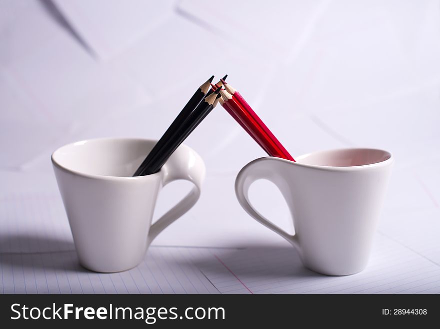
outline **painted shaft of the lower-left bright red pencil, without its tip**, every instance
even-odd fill
[[[245,129],[249,135],[267,152],[268,155],[285,158],[284,154],[270,139],[270,137],[261,129],[258,123],[248,114],[248,112],[234,99],[229,99],[224,104],[227,104],[231,110],[240,119],[241,123],[247,128]]]

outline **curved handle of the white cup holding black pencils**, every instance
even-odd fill
[[[187,180],[194,184],[189,193],[163,216],[157,219],[150,227],[148,245],[169,224],[192,208],[200,197],[201,185],[205,176],[203,160],[191,149],[184,150],[187,146],[180,146],[163,165],[162,186],[176,180]]]

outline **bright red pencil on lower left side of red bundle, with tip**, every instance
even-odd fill
[[[258,123],[228,92],[220,91],[220,104],[237,121],[241,127],[258,143],[270,156],[286,158],[276,143],[260,128]],[[290,159],[289,159],[290,160]]]

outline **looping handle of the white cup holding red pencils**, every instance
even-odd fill
[[[250,204],[248,193],[249,187],[252,183],[258,179],[267,179],[268,181],[275,184],[275,186],[281,191],[281,194],[284,196],[283,189],[281,188],[281,182],[284,181],[284,178],[279,174],[278,170],[273,166],[280,160],[277,158],[266,157],[256,159],[246,166],[244,166],[237,175],[235,179],[235,194],[237,196],[238,202],[241,207],[257,222],[263,224],[265,227],[271,229],[275,233],[281,235],[284,239],[286,239],[289,243],[291,243],[296,249],[299,250],[299,245],[297,241],[296,235],[291,235],[276,226],[264,216],[262,216],[255,208]],[[279,163],[280,164],[280,163]],[[282,165],[282,164],[280,164]]]

